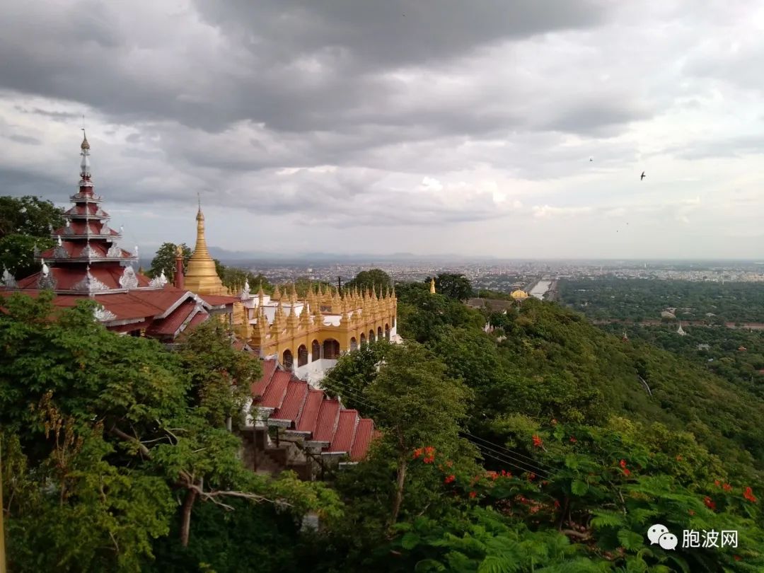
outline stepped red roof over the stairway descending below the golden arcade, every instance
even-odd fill
[[[283,370],[277,361],[263,362],[263,377],[252,384],[254,406],[274,425],[305,434],[319,442],[324,454],[345,454],[351,461],[366,457],[374,438],[374,421],[347,410],[303,380]],[[260,416],[258,416],[260,419]]]

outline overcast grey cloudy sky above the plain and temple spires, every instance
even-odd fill
[[[0,54],[0,194],[84,114],[143,253],[200,193],[233,251],[764,257],[764,2],[2,2]]]

